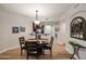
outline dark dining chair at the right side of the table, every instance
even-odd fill
[[[50,51],[50,56],[52,55],[52,44],[53,44],[53,37],[50,37],[50,42],[44,43],[44,50],[49,50]]]

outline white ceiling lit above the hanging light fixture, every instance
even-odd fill
[[[28,16],[30,21],[36,18],[36,10],[38,10],[39,20],[56,22],[73,5],[74,3],[2,3],[0,10]]]

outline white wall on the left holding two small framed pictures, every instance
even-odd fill
[[[12,34],[13,26],[24,26],[26,28],[25,33]],[[32,23],[26,16],[7,11],[0,11],[0,51],[20,46],[19,37],[28,37],[30,31]]]

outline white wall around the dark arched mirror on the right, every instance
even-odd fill
[[[70,40],[73,40],[82,46],[86,47],[86,41],[78,40],[70,37],[70,23],[75,16],[83,16],[86,18],[86,4],[78,4],[77,8],[72,8],[66,14],[64,14],[61,17],[61,22],[65,23],[65,43],[66,43],[66,50],[70,53],[73,53],[73,48],[69,44]],[[86,59],[86,49],[79,50],[81,59]]]

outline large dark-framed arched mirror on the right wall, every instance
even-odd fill
[[[76,16],[71,22],[71,38],[86,40],[86,20],[83,16]]]

